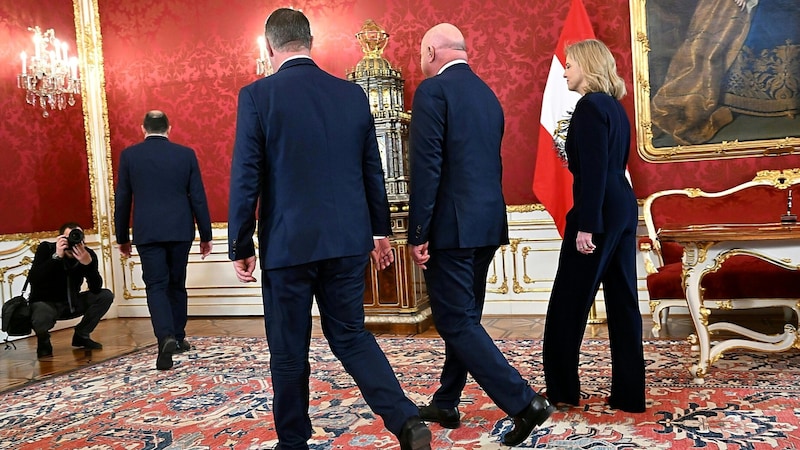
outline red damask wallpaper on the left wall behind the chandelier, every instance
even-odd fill
[[[0,2],[0,235],[94,225],[80,98],[44,118],[17,88],[20,52],[33,52],[28,27],[36,25],[53,28],[75,54],[72,1]]]

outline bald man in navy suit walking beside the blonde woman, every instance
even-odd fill
[[[458,28],[431,28],[420,50],[427,79],[414,94],[411,113],[408,242],[414,262],[425,269],[433,320],[445,341],[441,386],[420,416],[457,428],[470,373],[513,418],[513,429],[503,436],[503,444],[513,446],[555,408],[511,367],[481,325],[489,265],[508,243],[503,109],[467,65]]]

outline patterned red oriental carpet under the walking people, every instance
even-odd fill
[[[437,386],[438,339],[379,339],[417,403]],[[269,352],[265,339],[197,338],[174,370],[155,370],[155,348],[0,395],[0,448],[271,449]],[[540,341],[501,341],[540,389]],[[731,353],[705,385],[686,367],[686,342],[645,344],[648,410],[610,410],[608,343],[583,348],[581,408],[555,413],[521,448],[800,448],[800,354]],[[312,449],[397,449],[324,340],[312,341]],[[510,420],[474,382],[457,430],[431,425],[434,449],[500,449]]]

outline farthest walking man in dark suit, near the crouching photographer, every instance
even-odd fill
[[[186,266],[200,231],[200,252],[211,253],[211,216],[197,156],[169,141],[166,114],[144,117],[144,141],[122,151],[114,195],[119,251],[131,256],[128,226],[133,206],[133,242],[142,261],[147,308],[158,339],[156,368],[172,368],[172,354],[189,350]]]

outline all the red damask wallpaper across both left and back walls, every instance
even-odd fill
[[[58,6],[47,2],[47,8],[42,8],[45,0],[14,8],[6,3],[0,3],[0,38],[14,44],[0,50],[4,63],[0,102],[3,111],[20,114],[7,114],[9,119],[0,124],[2,142],[17,149],[10,152],[14,153],[11,161],[3,158],[0,162],[6,168],[6,177],[0,181],[4,188],[0,206],[6,217],[11,217],[9,208],[15,208],[14,224],[0,221],[0,234],[52,230],[65,216],[91,217],[86,157],[78,150],[73,153],[73,147],[84,148],[83,127],[77,125],[79,112],[51,118],[45,122],[46,132],[32,133],[42,121],[35,111],[19,108],[21,93],[9,80],[14,83],[19,65],[22,44],[17,43],[29,38],[25,28],[29,22],[42,23],[33,12],[46,9],[58,15],[60,22],[50,23],[58,23],[53,26],[58,26],[59,34],[63,23],[67,33],[71,2],[62,0]],[[531,182],[542,91],[569,0],[98,0],[98,4],[114,163],[125,147],[142,139],[139,125],[144,113],[155,108],[166,111],[173,125],[171,139],[197,152],[215,222],[227,220],[238,90],[257,78],[256,38],[263,33],[269,12],[283,6],[306,13],[314,34],[312,56],[340,77],[362,56],[354,35],[364,20],[373,19],[384,27],[390,34],[385,56],[404,74],[407,108],[422,80],[419,42],[423,33],[439,22],[459,26],[467,39],[470,65],[495,90],[505,109],[506,201],[512,205],[537,202]],[[584,4],[595,34],[615,53],[632,92],[628,0],[584,0]],[[12,94],[20,97],[15,101]],[[633,122],[632,94],[624,104]],[[46,137],[29,138],[28,134]],[[41,163],[45,156],[46,167]],[[53,164],[51,158],[55,158]],[[641,160],[632,145],[630,172],[637,197],[644,198],[676,186],[722,189],[752,178],[758,169],[797,166],[800,156],[654,164]],[[73,200],[75,192],[81,193],[80,202]],[[16,206],[20,199],[24,212]]]

